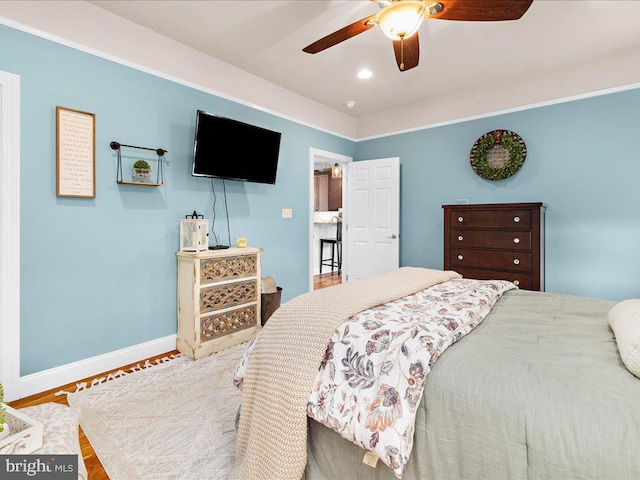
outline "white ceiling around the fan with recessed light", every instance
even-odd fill
[[[479,1],[479,0],[478,0]],[[377,29],[302,48],[375,13],[370,1],[91,1],[131,22],[359,118],[636,49],[640,1],[534,0],[512,22],[427,20],[420,65],[401,73]],[[374,76],[360,80],[361,68]],[[354,100],[348,109],[345,101]]]

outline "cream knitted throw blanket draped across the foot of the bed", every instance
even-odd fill
[[[307,401],[333,331],[349,317],[460,275],[404,267],[316,290],[280,307],[256,338],[242,387],[231,478],[299,480]]]

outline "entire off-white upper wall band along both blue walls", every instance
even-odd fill
[[[83,1],[2,1],[0,23],[351,140],[637,88],[640,48],[355,119]]]

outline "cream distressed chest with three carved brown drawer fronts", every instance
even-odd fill
[[[178,252],[177,349],[193,359],[260,330],[261,248]]]

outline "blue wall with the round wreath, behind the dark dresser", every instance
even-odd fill
[[[469,165],[482,134],[517,132],[522,169],[484,180]],[[544,202],[546,290],[640,297],[640,90],[358,143],[356,159],[399,156],[402,265],[443,267],[443,204]]]

